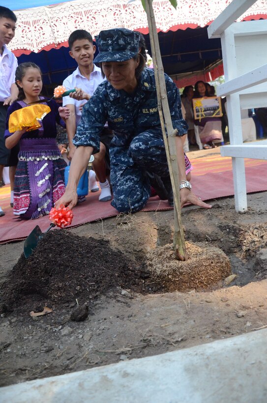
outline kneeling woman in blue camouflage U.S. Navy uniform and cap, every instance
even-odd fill
[[[73,141],[77,146],[74,164],[70,167],[66,191],[56,206],[63,204],[72,208],[77,203],[78,181],[91,154],[99,151],[99,135],[106,121],[114,133],[110,147],[114,195],[111,204],[118,212],[134,213],[147,203],[150,183],[144,172],[156,173],[163,179],[169,176],[154,72],[144,68],[139,41],[137,32],[124,28],[103,30],[96,38],[99,54],[94,62],[100,63],[107,80],[83,107]],[[181,206],[189,202],[210,208],[194,195],[186,180],[181,136],[187,133],[187,124],[181,115],[178,88],[166,74],[165,83],[173,126],[178,131],[176,151]]]

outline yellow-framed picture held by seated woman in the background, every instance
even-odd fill
[[[221,117],[222,105],[221,97],[210,96],[203,98],[193,98],[194,118],[201,120],[203,117]]]

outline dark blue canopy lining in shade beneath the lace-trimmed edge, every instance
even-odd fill
[[[178,80],[180,87],[183,83],[192,83],[194,77],[196,78],[197,74],[203,74],[203,71],[207,76],[206,81],[211,81],[223,74],[220,39],[209,41],[207,27],[170,30],[166,33],[159,32],[158,35],[164,70]],[[146,34],[144,37],[150,53],[149,35]],[[55,83],[61,84],[64,78],[77,67],[76,61],[69,56],[68,52],[68,48],[61,47],[48,52],[31,52],[29,55],[21,55],[18,60],[20,63],[33,61],[38,64],[43,72],[44,84],[53,86]],[[220,70],[218,67],[214,70],[215,63],[220,63]],[[207,75],[208,66],[211,66],[210,75]],[[191,72],[194,72],[193,76]]]

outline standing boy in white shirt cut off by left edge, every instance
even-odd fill
[[[15,71],[18,66],[16,57],[6,45],[15,36],[17,17],[9,8],[0,6],[0,186],[3,168],[9,166],[9,179],[11,188],[10,204],[13,206],[14,178],[18,161],[19,148],[14,147],[11,151],[6,148],[4,140],[5,119],[7,108],[18,97],[18,88],[15,84]],[[0,217],[4,215],[0,207]]]

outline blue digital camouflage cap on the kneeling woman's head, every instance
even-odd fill
[[[100,31],[95,37],[99,54],[94,63],[102,61],[124,61],[133,58],[139,52],[140,35],[126,28],[114,28]]]

